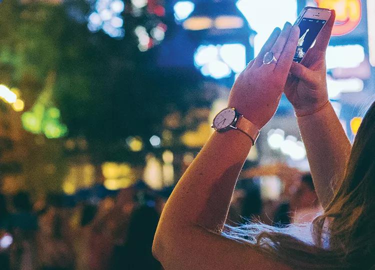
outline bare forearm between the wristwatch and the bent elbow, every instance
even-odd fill
[[[186,226],[221,230],[250,147],[250,138],[238,130],[214,132],[170,195],[156,238],[180,233]]]

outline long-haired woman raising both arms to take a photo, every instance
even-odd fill
[[[313,221],[311,233],[308,225],[224,227],[236,178],[252,141],[234,129],[214,132],[179,180],[160,217],[153,254],[165,269],[374,267],[375,104],[363,119],[351,150],[326,89],[324,58],[333,23],[332,10],[303,65],[292,63],[298,28],[285,24],[281,33],[275,29],[239,75],[228,102],[261,128],[272,117],[284,90],[295,109],[316,192],[325,209]],[[262,64],[268,51],[277,63]]]

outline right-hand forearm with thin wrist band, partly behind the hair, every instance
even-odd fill
[[[331,104],[311,115],[297,117],[297,122],[315,190],[325,207],[342,180],[351,144]]]

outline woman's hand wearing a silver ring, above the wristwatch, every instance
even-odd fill
[[[230,91],[228,105],[234,107],[259,129],[275,113],[297,47],[299,28],[285,23],[275,28],[259,55],[249,62]],[[263,64],[264,54],[272,51],[277,63]]]

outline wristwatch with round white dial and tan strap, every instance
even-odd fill
[[[221,110],[211,125],[216,131],[223,132],[229,129],[237,129],[250,137],[252,145],[259,136],[259,129],[248,119],[238,113],[235,108],[227,107]]]

